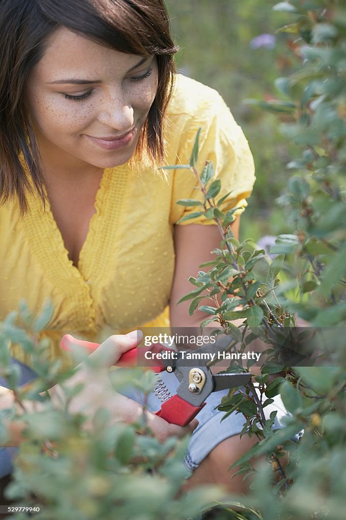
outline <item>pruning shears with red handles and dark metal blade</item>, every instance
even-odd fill
[[[73,343],[87,348],[90,353],[99,347],[98,343],[75,340],[74,337],[69,334],[63,336],[61,347],[64,350],[70,350],[69,345]],[[159,366],[149,366],[147,368],[155,373],[163,372],[164,370],[169,373],[174,372],[177,376],[180,384],[175,395],[170,396],[170,393],[165,391],[165,385],[163,383],[158,384],[158,386],[154,388],[154,392],[158,391],[156,395],[161,398],[162,402],[161,409],[156,412],[156,415],[169,423],[186,426],[196,417],[197,413],[202,410],[206,404],[205,400],[212,392],[218,392],[235,386],[243,386],[250,381],[251,374],[249,372],[213,374],[208,363],[204,361],[203,358],[205,356],[203,356],[203,354],[210,352],[211,348],[213,350],[215,350],[215,346],[217,346],[218,349],[221,347],[226,348],[229,346],[229,343],[229,337],[224,336],[212,347],[210,345],[203,345],[193,350],[196,354],[196,356],[194,356],[195,359],[199,359],[193,365],[191,365],[192,361],[190,360],[188,366],[187,360],[184,359],[179,351],[172,350],[159,343],[153,344],[150,347],[134,347],[119,358],[116,366],[137,366],[137,356],[139,352],[141,356],[146,351],[155,354],[165,351],[174,353],[174,356],[171,356],[173,359],[171,357],[168,359],[159,359]],[[201,361],[200,359],[203,360]]]

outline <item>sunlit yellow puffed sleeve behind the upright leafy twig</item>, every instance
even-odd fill
[[[203,86],[204,87],[204,86]],[[235,122],[229,108],[221,96],[208,87],[204,87],[208,98],[203,98],[199,110],[194,117],[185,114],[177,164],[188,164],[198,128],[201,127],[199,152],[196,170],[201,175],[206,161],[214,165],[215,174],[212,180],[221,180],[221,190],[217,200],[231,192],[222,203],[220,209],[227,212],[238,207],[235,216],[240,215],[246,205],[255,182],[255,166],[248,142],[242,128]],[[179,199],[197,199],[203,201],[203,194],[198,187],[198,180],[190,170],[174,171],[172,183],[172,199],[170,222],[176,224],[185,215],[199,211],[198,206],[184,207],[177,204]],[[184,220],[185,224],[214,224],[203,215]]]

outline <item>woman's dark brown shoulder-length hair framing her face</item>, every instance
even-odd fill
[[[21,213],[28,210],[28,191],[45,201],[41,158],[24,100],[25,83],[44,55],[48,37],[60,27],[123,53],[156,55],[157,93],[137,152],[146,147],[152,160],[163,161],[163,118],[178,50],[163,0],[1,0],[0,203],[17,196]]]

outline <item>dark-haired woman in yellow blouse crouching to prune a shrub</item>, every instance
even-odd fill
[[[203,219],[177,225],[193,209],[176,201],[196,197],[196,179],[179,169],[164,178],[157,166],[187,163],[201,127],[197,170],[214,163],[230,209],[246,205],[254,164],[220,96],[175,74],[162,0],[5,0],[0,35],[0,320],[22,297],[34,313],[50,297],[51,357],[65,355],[66,332],[91,341],[116,333],[95,353],[109,366],[137,344],[123,333],[169,325],[168,303],[171,327],[198,326],[204,315],[176,302],[219,246],[218,229]],[[30,365],[18,347],[12,354]],[[97,406],[107,406],[97,384]],[[75,409],[90,405],[87,391],[81,399]],[[3,388],[0,407],[10,400]],[[228,467],[253,442],[239,441],[239,416],[220,425],[218,402],[198,415],[185,458],[191,485],[230,484]],[[110,407],[117,420],[139,411],[124,396]],[[184,433],[150,418],[160,438]],[[241,490],[241,478],[231,488]]]

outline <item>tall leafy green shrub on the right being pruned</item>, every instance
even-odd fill
[[[289,233],[277,237],[271,248],[277,255],[273,261],[250,239],[235,240],[228,227],[234,210],[222,211],[222,199],[217,198],[220,181],[213,179],[212,165],[206,164],[201,176],[194,168],[197,136],[186,167],[199,178],[204,198],[178,203],[196,205],[195,215],[214,219],[222,241],[220,249],[213,251],[214,260],[201,266],[207,270],[190,278],[194,288],[181,301],[192,300],[190,314],[197,308],[206,313],[201,327],[218,321],[230,335],[232,351],[244,352],[257,338],[268,344],[261,375],[253,378],[257,389],[254,383],[245,385],[245,391],[232,389],[219,407],[227,415],[242,413],[243,434],[259,439],[236,463],[244,478],[251,475],[251,493],[238,499],[257,511],[250,517],[342,520],[346,9],[332,0],[296,0],[281,2],[274,10],[285,12],[287,20],[279,32],[288,35],[287,45],[299,67],[275,80],[279,99],[248,99],[247,103],[275,113],[285,139],[296,147],[287,165],[286,176],[291,176],[278,201]],[[183,218],[193,222],[193,215]],[[255,266],[263,259],[269,267],[262,266],[258,274]],[[210,305],[199,306],[205,291]],[[295,327],[297,315],[310,327]],[[244,320],[239,327],[232,323],[237,318]],[[251,370],[251,364],[234,363],[229,371],[244,368]],[[289,413],[280,429],[274,422],[277,395]],[[273,403],[268,417],[265,408]],[[300,431],[304,434],[297,441]],[[270,464],[254,467],[251,460],[263,455]]]

